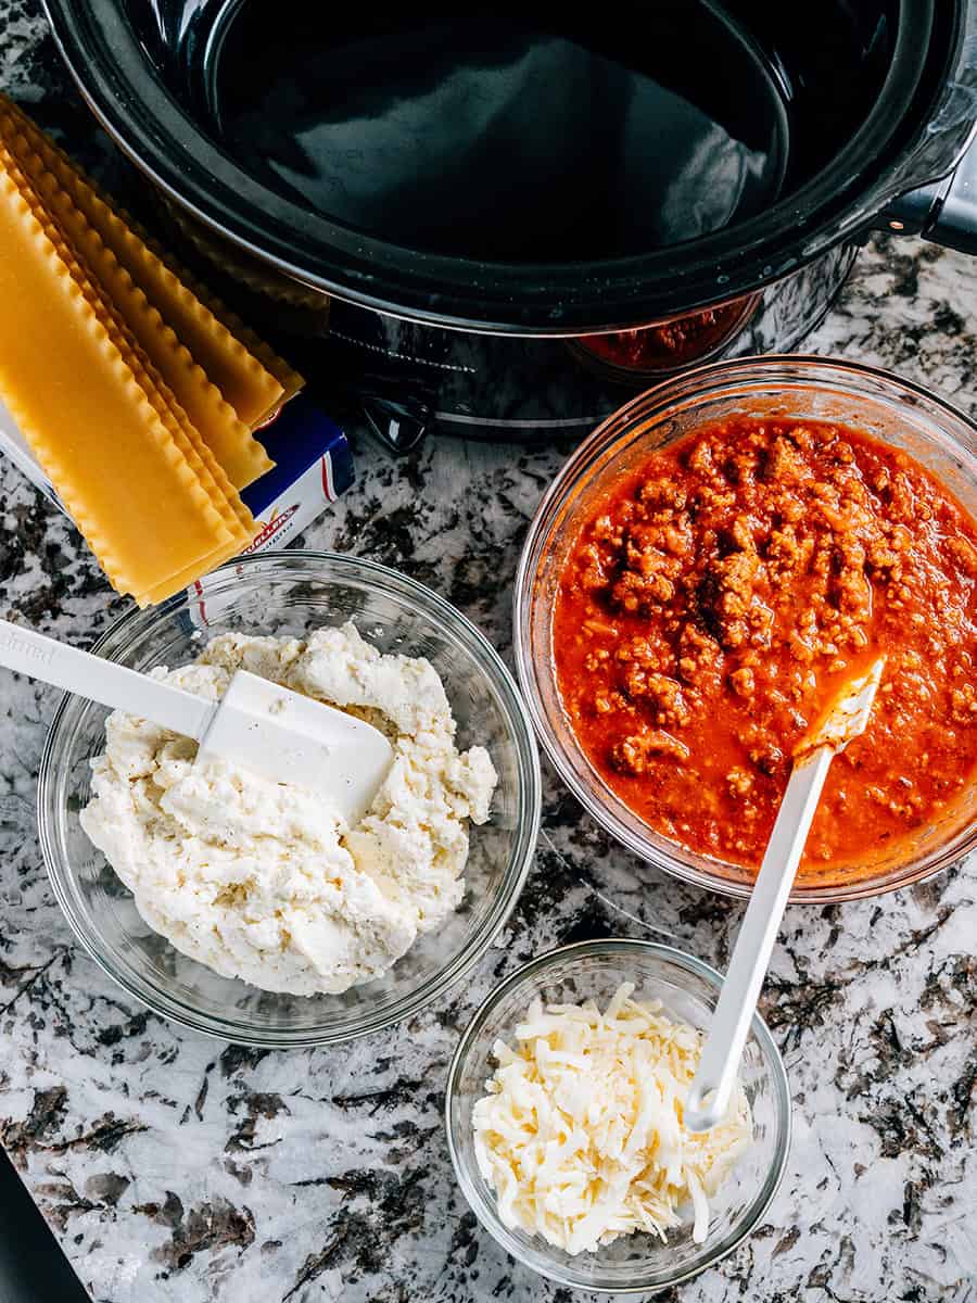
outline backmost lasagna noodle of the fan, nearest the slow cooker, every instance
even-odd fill
[[[1,96],[0,109],[0,132],[25,137],[245,425],[255,426],[301,388],[297,373],[245,331],[219,301],[210,300],[208,306],[184,268],[128,214],[116,211],[29,117]],[[246,336],[250,351],[240,336]]]

